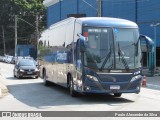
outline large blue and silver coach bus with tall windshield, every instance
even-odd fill
[[[117,18],[67,18],[43,31],[38,60],[45,85],[69,88],[71,96],[139,93],[141,38],[136,23]],[[148,47],[149,45],[147,45]]]

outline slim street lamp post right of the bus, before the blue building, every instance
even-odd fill
[[[151,27],[154,27],[154,71],[156,70],[156,40],[157,40],[157,30],[156,27],[159,26],[160,23],[151,24]]]

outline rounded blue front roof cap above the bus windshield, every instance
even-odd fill
[[[77,18],[77,20],[81,21],[83,26],[138,28],[138,25],[136,23],[119,18],[86,17]]]

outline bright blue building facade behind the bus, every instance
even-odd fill
[[[98,0],[44,0],[47,27],[71,14],[97,16]],[[101,0],[101,16],[134,21],[140,33],[156,38],[156,65],[160,66],[160,0]],[[157,24],[157,26],[154,26]],[[145,54],[146,56],[147,54]],[[144,62],[146,64],[147,62]]]

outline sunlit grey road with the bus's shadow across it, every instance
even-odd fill
[[[0,111],[160,111],[160,91],[142,88],[139,94],[90,95],[73,98],[65,88],[46,87],[43,80],[13,77],[13,65],[0,63],[9,94]]]

